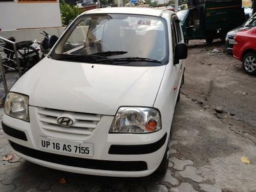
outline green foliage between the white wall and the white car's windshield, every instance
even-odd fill
[[[65,1],[61,1],[60,5],[60,14],[62,26],[67,26],[69,23],[74,20],[77,15],[81,14],[83,10],[77,8],[73,5],[68,5]]]

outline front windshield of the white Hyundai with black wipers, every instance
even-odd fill
[[[160,17],[88,14],[75,20],[50,56],[87,63],[110,61],[111,65],[129,61],[135,66],[141,65],[139,61],[161,65],[168,58],[166,42],[166,23]]]

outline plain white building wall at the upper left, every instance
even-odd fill
[[[54,3],[0,2],[0,29],[61,27],[59,0]]]

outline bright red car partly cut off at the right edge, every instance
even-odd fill
[[[256,27],[239,32],[234,40],[234,57],[243,62],[246,73],[256,75]]]

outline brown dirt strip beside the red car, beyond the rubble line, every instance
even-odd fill
[[[206,108],[220,106],[224,114],[234,112],[232,120],[255,127],[256,76],[245,74],[241,61],[227,54],[220,41],[208,46],[195,40],[188,47],[184,95],[202,101]],[[214,49],[220,52],[212,53]]]

